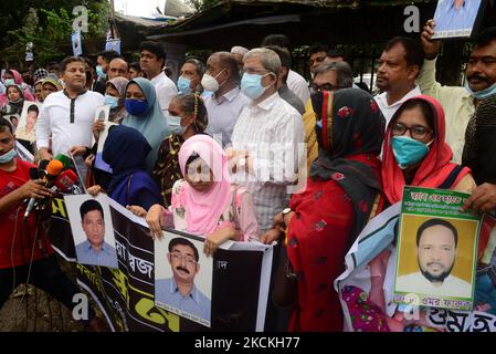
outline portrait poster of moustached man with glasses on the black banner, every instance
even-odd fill
[[[213,259],[203,240],[163,232],[155,240],[155,304],[210,327]]]

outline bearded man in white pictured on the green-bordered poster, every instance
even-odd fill
[[[442,298],[471,298],[472,284],[452,274],[458,237],[458,231],[447,220],[424,221],[416,231],[419,271],[399,277],[395,290]]]

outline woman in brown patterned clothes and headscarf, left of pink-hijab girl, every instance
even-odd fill
[[[154,177],[160,186],[163,205],[169,206],[172,186],[182,178],[179,149],[184,140],[207,129],[208,115],[203,100],[194,93],[177,95],[170,101],[167,123],[172,134],[160,144]]]

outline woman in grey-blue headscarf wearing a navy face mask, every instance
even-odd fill
[[[125,106],[128,115],[123,125],[137,129],[147,139],[151,152],[146,158],[148,171],[154,170],[158,149],[165,136],[169,135],[154,84],[147,79],[136,77],[126,86]]]

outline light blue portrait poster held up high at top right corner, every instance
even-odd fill
[[[482,0],[439,0],[432,39],[471,37],[482,12]]]

